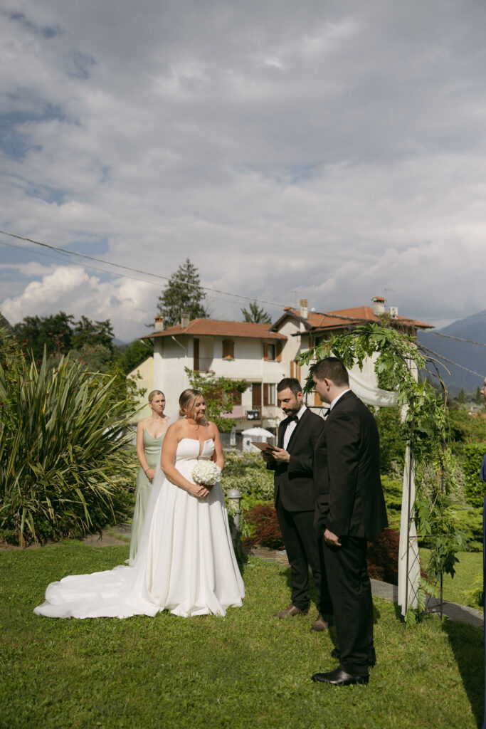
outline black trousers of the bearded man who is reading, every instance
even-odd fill
[[[315,535],[313,511],[287,511],[277,500],[277,516],[283,544],[289,558],[291,601],[299,610],[309,607],[309,565],[317,593],[318,612],[332,615],[332,602],[327,587],[321,539]]]

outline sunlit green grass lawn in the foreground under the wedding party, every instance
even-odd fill
[[[476,728],[482,631],[427,617],[404,629],[375,599],[377,666],[368,686],[315,685],[332,637],[314,615],[278,621],[286,566],[251,558],[247,595],[226,617],[128,620],[33,615],[51,580],[109,569],[127,547],[79,542],[0,553],[0,726],[34,729]]]

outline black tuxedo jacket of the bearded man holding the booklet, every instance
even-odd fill
[[[279,448],[283,448],[283,435],[288,423],[289,418],[284,418],[278,426]],[[289,463],[270,461],[267,464],[267,468],[275,471],[275,507],[280,496],[283,507],[288,511],[314,510],[313,457],[323,426],[322,418],[305,410],[286,448],[290,453]]]

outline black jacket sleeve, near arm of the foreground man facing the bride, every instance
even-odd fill
[[[329,512],[326,527],[338,537],[348,534],[358,481],[360,422],[338,410],[326,425]]]

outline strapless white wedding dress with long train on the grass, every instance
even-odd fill
[[[187,480],[197,459],[211,459],[213,440],[202,453],[198,440],[183,438],[176,468]],[[156,615],[225,615],[240,607],[243,580],[232,547],[220,483],[205,499],[174,486],[160,469],[154,477],[148,516],[136,560],[107,572],[77,574],[51,582],[36,607],[47,617],[130,617]]]

